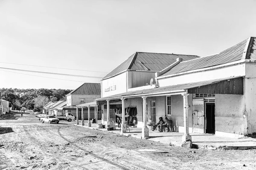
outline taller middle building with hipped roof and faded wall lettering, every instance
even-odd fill
[[[122,102],[120,101],[122,94],[132,94],[134,91],[140,90],[151,91],[156,83],[155,74],[169,67],[169,65],[177,64],[177,57],[182,57],[185,61],[198,58],[195,55],[136,52],[103,77],[101,80],[102,99],[97,99],[102,101],[100,102],[102,105],[102,122],[116,121],[116,110],[122,110]],[[111,96],[118,96],[118,98],[108,100],[112,99]],[[148,107],[150,106],[149,102],[147,102]],[[133,117],[133,120],[130,119],[130,122],[135,120],[135,122],[138,122],[137,127],[143,127],[143,99],[141,97],[125,98],[124,103],[126,109],[132,108],[132,110],[137,111],[137,115]]]

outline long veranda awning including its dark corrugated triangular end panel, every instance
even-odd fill
[[[113,96],[102,97],[96,101],[106,99],[133,98],[142,96],[166,96],[175,94],[243,94],[243,77],[227,77],[222,79],[213,79],[202,82],[192,82],[180,85],[171,85],[159,88],[145,89],[139,91],[129,91]]]

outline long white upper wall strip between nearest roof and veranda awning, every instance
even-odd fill
[[[190,82],[201,82],[212,79],[221,79],[233,76],[245,76],[245,64],[233,65],[225,68],[218,68],[215,70],[201,71],[190,74],[182,74],[179,76],[168,77],[165,79],[158,79],[158,85],[180,85]]]

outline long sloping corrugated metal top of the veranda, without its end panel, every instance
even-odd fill
[[[193,82],[193,83],[186,83],[186,84],[180,84],[180,85],[171,85],[171,86],[166,86],[166,87],[159,87],[159,88],[153,88],[153,89],[145,89],[145,90],[139,90],[139,91],[129,91],[125,92],[122,94],[116,94],[113,96],[108,96],[108,97],[103,97],[100,99],[96,100],[106,100],[106,99],[117,99],[117,98],[122,98],[122,97],[133,97],[134,95],[137,97],[140,96],[150,96],[150,95],[157,95],[157,94],[170,94],[174,93],[175,91],[185,91],[187,89],[199,87],[199,86],[204,86],[204,85],[209,85],[212,83],[218,83],[220,81],[228,80],[228,79],[236,79],[239,77],[227,77],[227,78],[222,78],[222,79],[213,79],[213,80],[207,80],[207,81],[202,81],[202,82]],[[243,82],[243,81],[240,81]],[[235,85],[240,85],[240,84],[235,84]],[[216,86],[216,88],[221,88],[221,86]],[[237,88],[237,87],[236,87]],[[221,90],[220,90],[221,91]],[[216,93],[218,94],[218,93]],[[223,93],[222,93],[223,94]],[[230,94],[227,93],[227,94]]]

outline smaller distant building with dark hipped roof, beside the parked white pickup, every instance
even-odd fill
[[[84,83],[83,85],[79,86],[75,90],[71,91],[67,96],[67,106],[59,108],[62,112],[69,112],[73,113],[75,117],[77,117],[77,107],[76,105],[81,105],[84,103],[95,102],[97,98],[101,97],[101,85],[99,83]],[[91,118],[94,118],[94,108],[90,108]],[[88,118],[88,109],[83,110],[84,118]],[[81,115],[81,108],[78,110],[78,119],[82,118]],[[101,113],[99,109],[99,113]],[[101,119],[101,114],[98,116]]]

